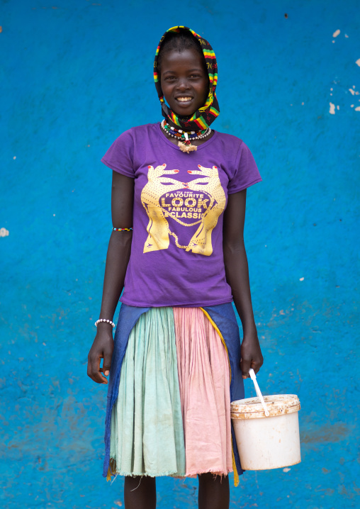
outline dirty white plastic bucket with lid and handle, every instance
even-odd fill
[[[252,376],[257,386],[254,374]],[[259,386],[257,386],[259,389]],[[279,469],[301,462],[295,394],[247,398],[231,403],[237,449],[244,470]],[[261,403],[263,399],[263,403]],[[265,415],[265,407],[266,414]]]

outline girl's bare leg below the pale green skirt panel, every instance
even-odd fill
[[[154,477],[125,477],[125,509],[155,509],[156,480]]]

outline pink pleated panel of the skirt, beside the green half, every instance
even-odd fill
[[[173,308],[186,476],[232,471],[230,369],[201,308]]]

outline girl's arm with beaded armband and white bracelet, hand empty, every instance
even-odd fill
[[[113,172],[111,190],[111,216],[114,228],[133,227],[134,179]],[[105,276],[103,279],[103,298],[99,318],[113,320],[130,259],[132,231],[111,233],[106,255]],[[110,323],[100,322],[96,336],[88,355],[87,374],[97,384],[107,384],[103,376],[108,376],[113,354],[113,327]],[[103,368],[100,367],[103,359]],[[101,371],[103,374],[101,374]]]

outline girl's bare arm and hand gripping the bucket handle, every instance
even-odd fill
[[[230,194],[223,226],[225,274],[243,330],[240,368],[244,379],[249,376],[250,368],[257,373],[264,362],[252,311],[249,268],[244,245],[245,208],[246,189]]]

